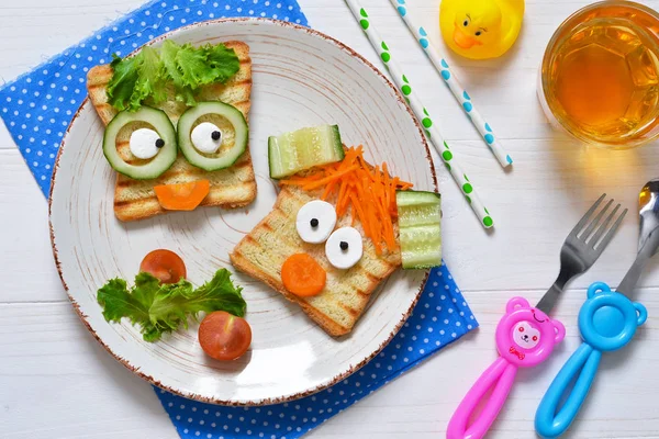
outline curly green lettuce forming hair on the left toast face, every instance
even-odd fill
[[[112,55],[112,79],[108,102],[116,110],[138,110],[145,102],[159,104],[174,99],[194,105],[194,95],[203,86],[224,83],[239,69],[235,50],[224,44],[194,47],[166,40],[160,48],[144,47],[133,57]]]

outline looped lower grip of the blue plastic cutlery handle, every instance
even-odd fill
[[[547,439],[557,438],[568,429],[574,417],[577,417],[585,396],[588,396],[588,391],[595,379],[595,373],[597,373],[601,358],[602,352],[594,350],[588,344],[582,344],[572,353],[572,357],[551,382],[536,412],[535,428],[538,435]],[[577,375],[579,378],[577,378],[572,391],[560,410],[557,412],[561,397]]]

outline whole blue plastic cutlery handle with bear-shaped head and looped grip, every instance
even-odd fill
[[[597,373],[602,352],[627,345],[647,318],[645,306],[612,292],[605,283],[595,282],[589,286],[588,300],[579,311],[579,330],[584,342],[566,362],[543,397],[535,418],[538,435],[556,438],[570,427]],[[574,386],[557,413],[558,404],[574,378]]]

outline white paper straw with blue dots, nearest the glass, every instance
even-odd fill
[[[460,85],[460,81],[458,80],[458,77],[456,76],[455,71],[448,67],[448,63],[442,57],[439,50],[437,50],[437,47],[435,47],[435,45],[431,42],[427,32],[422,26],[417,26],[416,24],[414,24],[414,22],[412,21],[412,18],[407,13],[405,0],[390,1],[391,4],[393,4],[393,7],[396,9],[407,27],[410,29],[410,32],[412,32],[421,47],[423,47],[428,58],[431,58],[431,61],[435,66],[435,69],[437,69],[439,75],[442,75],[442,78],[448,86],[450,92],[456,98],[460,106],[462,106],[462,110],[465,110],[465,113],[467,113],[467,116],[469,117],[473,126],[476,126],[478,132],[481,134],[481,136],[485,140],[485,144],[488,145],[492,154],[494,154],[494,157],[496,157],[496,160],[499,160],[501,166],[503,166],[504,168],[512,165],[513,159],[503,149],[503,146],[501,146],[501,143],[499,142],[496,136],[494,136],[494,132],[492,131],[490,124],[485,122],[483,116],[476,109],[473,101],[471,101],[471,97],[469,95],[467,90],[465,90],[465,88]]]

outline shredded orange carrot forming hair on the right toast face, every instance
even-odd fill
[[[340,162],[320,166],[305,176],[293,176],[279,183],[298,185],[305,191],[324,188],[321,199],[336,196],[337,216],[349,210],[351,224],[361,223],[364,234],[370,238],[378,255],[383,247],[395,249],[395,191],[407,190],[412,183],[392,177],[387,164],[370,166],[364,159],[361,145],[347,148]]]

